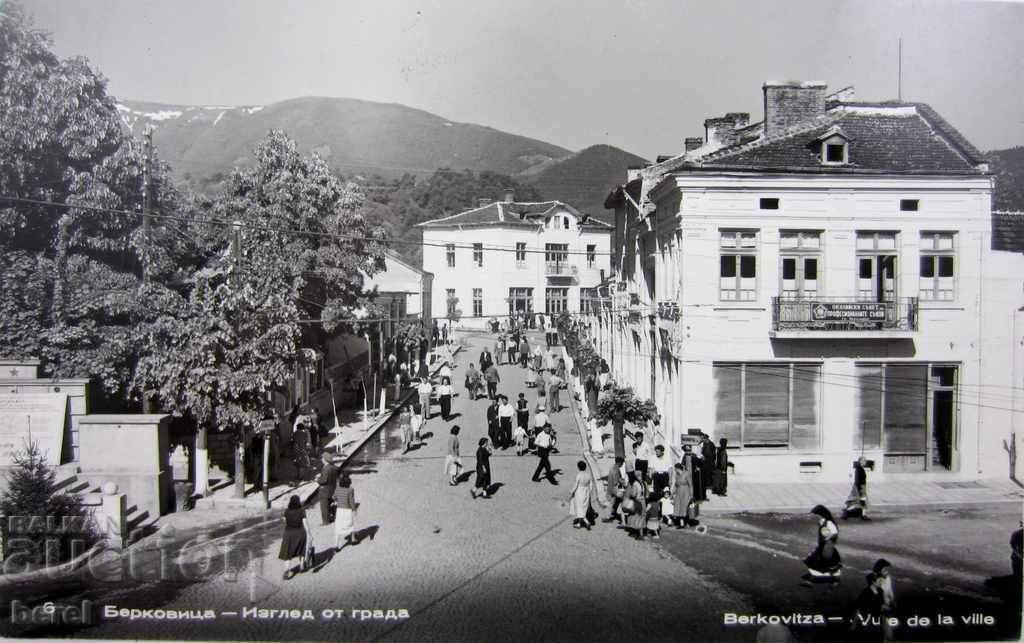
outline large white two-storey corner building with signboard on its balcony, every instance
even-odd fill
[[[984,158],[925,104],[763,91],[763,122],[709,119],[609,196],[613,375],[744,478],[1007,475],[1024,264]]]

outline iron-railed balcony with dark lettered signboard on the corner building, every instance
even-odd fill
[[[918,331],[918,299],[866,301],[855,297],[772,297],[775,338],[910,338]]]

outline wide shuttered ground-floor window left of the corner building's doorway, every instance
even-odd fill
[[[714,365],[715,433],[735,446],[817,449],[821,366]]]

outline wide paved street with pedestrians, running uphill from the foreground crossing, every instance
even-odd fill
[[[810,516],[709,516],[707,535],[667,529],[659,541],[643,543],[602,522],[591,531],[574,529],[567,501],[583,445],[568,409],[552,415],[560,452],[551,462],[560,471],[559,484],[530,481],[537,458],[517,457],[510,448],[492,458],[493,480],[499,485],[493,498],[471,498],[472,476],[449,486],[442,468],[451,425],[462,427],[466,471],[473,469],[477,440],[486,435],[486,399],[470,401],[462,387],[465,368],[476,360],[484,342],[490,346],[493,338],[471,338],[458,356],[453,378],[458,396],[451,422],[441,420],[433,406],[425,443],[408,454],[401,453],[398,427],[392,422],[349,461],[346,470],[359,503],[356,546],[337,554],[325,551],[333,544],[332,527],[321,525],[314,504],[307,515],[314,525],[317,565],[290,581],[282,581],[276,560],[281,520],[254,522],[238,535],[217,534],[207,545],[175,543],[163,552],[150,548],[142,556],[148,562],[137,569],[164,564],[179,570],[170,575],[140,577],[122,560],[115,567],[123,573],[114,576],[121,580],[111,581],[108,569],[80,573],[59,586],[18,587],[9,600],[37,605],[89,599],[95,617],[86,626],[18,627],[4,634],[196,640],[753,641],[760,626],[725,625],[727,614],[797,612],[824,619],[824,625],[793,627],[801,640],[836,640],[847,636],[846,618],[864,587],[863,574],[884,556],[893,563],[902,613],[928,615],[933,624],[938,612],[957,619],[956,627],[945,629],[902,628],[900,638],[1016,639],[1008,619],[1013,610],[984,585],[987,576],[1009,573],[1006,543],[1020,519],[1016,507],[954,512],[930,508],[879,514],[870,523],[841,521],[840,550],[847,566],[840,586],[829,590],[799,584],[801,560],[813,546]],[[524,372],[507,365],[499,369],[499,391],[513,399],[525,392],[532,406],[537,393],[523,385]],[[981,524],[985,529],[978,528]],[[932,538],[926,542],[921,533]],[[219,552],[219,546],[227,558],[218,554],[210,560],[209,552]],[[169,562],[161,563],[162,557]],[[122,609],[212,612],[210,618],[185,623],[141,612],[133,618]],[[298,611],[282,616],[266,611],[270,609]],[[303,610],[309,610],[307,618]],[[104,615],[109,613],[125,615]],[[959,623],[973,613],[993,616],[994,627]],[[4,623],[8,628],[6,618]]]

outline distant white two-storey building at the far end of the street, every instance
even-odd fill
[[[490,317],[580,312],[609,268],[611,226],[558,201],[482,201],[419,224],[435,317],[482,328]]]

